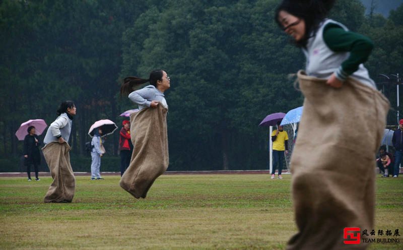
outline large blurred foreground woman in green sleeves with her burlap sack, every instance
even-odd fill
[[[362,65],[372,42],[326,18],[333,2],[283,0],[276,10],[276,22],[307,59],[298,72],[305,99],[291,159],[299,232],[287,249],[365,249],[344,233],[374,229],[373,159],[389,102]]]

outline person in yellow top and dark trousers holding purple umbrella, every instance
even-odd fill
[[[272,179],[275,178],[276,167],[279,166],[279,179],[282,179],[281,170],[283,169],[284,153],[288,154],[288,134],[284,131],[283,126],[280,126],[280,122],[277,123],[278,130],[272,133],[273,142],[273,170]]]

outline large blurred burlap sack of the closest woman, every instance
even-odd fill
[[[389,102],[351,78],[340,89],[302,71],[298,80],[305,99],[291,172],[299,232],[287,249],[365,249],[344,244],[343,230],[374,229],[375,154]]]

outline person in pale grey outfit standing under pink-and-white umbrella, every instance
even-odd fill
[[[104,179],[101,177],[101,157],[105,154],[105,148],[102,141],[102,129],[94,130],[94,137],[91,140],[91,180]]]

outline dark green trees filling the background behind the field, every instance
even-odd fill
[[[92,122],[135,108],[117,94],[121,79],[164,69],[171,77],[171,170],[262,169],[265,115],[302,105],[293,73],[304,56],[274,22],[278,0],[4,0],[0,4],[0,155],[21,154],[19,124],[48,124],[62,100],[74,100],[72,157],[84,153]],[[364,15],[339,0],[331,17],[375,43],[367,68],[399,72],[403,6],[389,18]],[[385,85],[395,106],[395,86]],[[395,117],[390,115],[390,123]],[[109,138],[116,155],[118,135]]]

